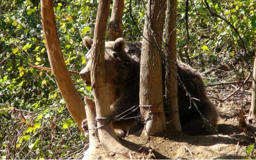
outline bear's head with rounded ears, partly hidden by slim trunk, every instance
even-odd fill
[[[92,38],[83,38],[83,44],[88,52],[85,55],[86,66],[80,71],[80,76],[85,81],[86,86],[91,85],[91,65],[92,65]],[[123,57],[127,57],[125,52],[125,39],[118,38],[115,41],[105,42],[105,78],[108,85],[121,84],[119,72]]]

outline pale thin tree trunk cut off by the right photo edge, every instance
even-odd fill
[[[256,56],[256,53],[255,53]],[[256,58],[254,58],[253,64],[253,90],[252,90],[252,104],[251,104],[251,111],[249,115],[249,122],[252,123],[253,119],[256,118]],[[255,122],[255,121],[254,121]]]

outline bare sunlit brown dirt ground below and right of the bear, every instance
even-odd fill
[[[241,90],[234,94],[233,92],[242,86],[241,84],[207,87],[207,93],[213,97],[211,100],[219,111],[216,134],[189,136],[167,131],[162,137],[129,135],[124,141],[136,145],[137,147],[132,148],[134,151],[143,148],[140,149],[141,156],[137,157],[141,159],[243,159],[248,156],[246,147],[254,142],[252,134],[241,129],[238,121],[238,113],[241,109],[245,118],[249,115],[250,84],[244,84]],[[224,102],[216,98],[225,99],[231,94],[233,95]]]

